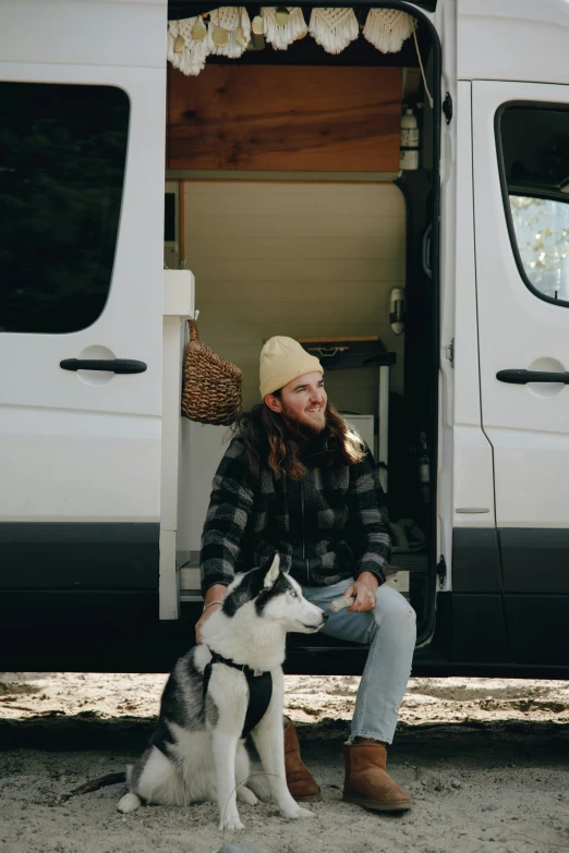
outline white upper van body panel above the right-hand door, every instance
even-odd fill
[[[567,0],[458,0],[458,78],[569,83]]]

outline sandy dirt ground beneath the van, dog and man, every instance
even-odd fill
[[[323,788],[314,820],[240,804],[223,838],[216,806],[116,811],[123,770],[152,731],[165,675],[0,673],[0,853],[552,853],[569,851],[569,682],[412,679],[389,751],[411,812],[343,803],[342,741],[359,679],[288,677],[288,714]]]

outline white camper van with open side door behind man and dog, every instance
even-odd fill
[[[227,441],[180,417],[199,309],[245,407],[288,334],[375,448],[415,674],[569,677],[569,4],[347,13],[373,8],[414,35],[257,36],[185,76],[167,29],[175,64],[216,7],[0,0],[4,669],[156,671],[192,642]],[[292,638],[288,667],[364,657]]]

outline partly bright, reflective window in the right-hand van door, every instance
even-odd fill
[[[569,305],[569,110],[507,107],[499,137],[522,278],[542,298]]]

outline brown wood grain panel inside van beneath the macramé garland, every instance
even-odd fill
[[[394,172],[401,70],[169,71],[169,168]]]

